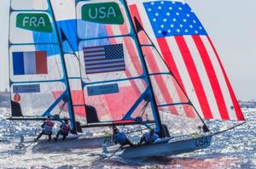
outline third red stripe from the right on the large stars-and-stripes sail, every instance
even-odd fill
[[[187,67],[187,70],[189,72],[191,82],[193,83],[193,86],[195,88],[195,93],[198,98],[199,104],[201,105],[201,110],[202,110],[205,118],[212,119],[212,112],[211,112],[210,106],[207,101],[207,96],[206,96],[206,93],[202,86],[200,76],[198,75],[198,72],[195,68],[195,63],[192,58],[192,55],[190,54],[187,43],[185,42],[183,36],[177,36],[177,37],[175,37],[175,40],[176,40],[177,46],[183,56],[183,61],[184,61],[185,65]]]

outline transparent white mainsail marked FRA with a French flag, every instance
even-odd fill
[[[12,116],[58,115],[61,105],[70,104],[69,86],[51,5],[47,0],[12,0],[10,8]],[[55,91],[59,91],[58,96]],[[64,111],[61,116],[73,120],[72,110]]]

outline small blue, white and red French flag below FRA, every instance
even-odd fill
[[[13,52],[14,75],[47,74],[46,51]]]

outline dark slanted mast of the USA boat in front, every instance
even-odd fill
[[[144,65],[144,68],[145,68],[145,71],[146,71],[149,89],[150,89],[150,92],[153,94],[153,97],[152,97],[153,109],[154,109],[154,113],[156,115],[156,120],[158,121],[158,125],[159,125],[159,128],[160,128],[159,135],[160,135],[160,138],[162,138],[163,137],[163,128],[162,128],[162,123],[161,123],[161,119],[160,119],[160,113],[159,113],[159,110],[158,110],[158,107],[157,107],[157,104],[156,104],[156,100],[154,98],[154,89],[153,89],[153,85],[152,85],[150,75],[149,75],[149,72],[148,72],[148,66],[147,66],[147,63],[146,63],[146,59],[144,58],[143,49],[142,49],[141,43],[139,41],[139,38],[137,36],[137,31],[136,31],[135,25],[132,22],[131,13],[130,13],[130,10],[128,8],[126,0],[124,0],[124,3],[125,3],[126,11],[128,13],[128,19],[131,22],[131,29],[132,29],[133,32],[135,32],[135,37],[137,39],[137,43],[138,43],[138,46],[139,46],[138,52],[142,56],[141,58],[142,58],[142,62],[143,62],[143,65]]]

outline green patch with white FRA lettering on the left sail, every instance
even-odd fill
[[[30,31],[52,32],[49,16],[42,13],[18,14],[16,26]]]

